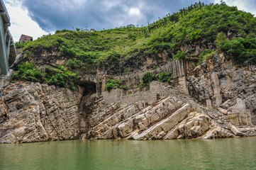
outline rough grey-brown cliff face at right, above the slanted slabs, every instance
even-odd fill
[[[189,95],[208,108],[234,113],[237,98],[243,100],[256,125],[256,66],[238,67],[224,55],[196,67],[187,76]]]

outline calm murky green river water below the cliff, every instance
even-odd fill
[[[256,169],[256,137],[0,145],[0,169]]]

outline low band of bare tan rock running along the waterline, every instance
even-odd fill
[[[159,82],[152,84],[163,86]],[[0,143],[255,135],[253,125],[235,125],[228,114],[206,108],[172,86],[165,85],[165,91],[169,91],[168,95],[160,95],[151,104],[145,101],[108,104],[99,94],[82,96],[69,89],[39,83],[10,84],[0,99]]]

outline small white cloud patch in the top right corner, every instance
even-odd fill
[[[224,0],[228,6],[238,6],[239,10],[252,13],[256,16],[256,1],[255,0]],[[220,4],[221,0],[215,0],[215,3]]]

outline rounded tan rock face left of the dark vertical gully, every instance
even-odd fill
[[[0,143],[79,138],[80,98],[77,92],[46,84],[7,86],[0,99]]]

